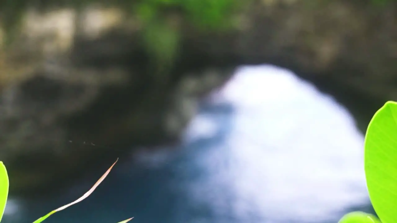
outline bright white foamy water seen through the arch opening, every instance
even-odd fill
[[[212,99],[231,103],[234,112],[224,148],[197,158],[209,175],[189,183],[196,201],[219,215],[231,208],[241,222],[251,213],[269,222],[329,221],[369,202],[363,136],[330,96],[264,65],[240,68]],[[198,115],[187,136],[207,138],[217,126]],[[226,201],[225,190],[233,198]]]

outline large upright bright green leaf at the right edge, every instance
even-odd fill
[[[364,168],[368,193],[382,223],[397,222],[397,103],[378,110],[365,135]]]

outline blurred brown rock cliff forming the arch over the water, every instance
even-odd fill
[[[232,28],[202,31],[165,10],[179,48],[158,72],[133,15],[29,10],[0,53],[0,157],[12,189],[36,191],[131,145],[177,139],[198,98],[240,64],[292,69],[333,94],[364,129],[396,94],[395,12],[394,3],[252,1]]]

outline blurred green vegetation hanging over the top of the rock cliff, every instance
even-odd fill
[[[38,10],[58,7],[81,10],[92,3],[116,6],[138,19],[143,44],[159,72],[167,71],[173,64],[181,44],[181,24],[173,24],[173,13],[177,13],[179,22],[189,23],[197,30],[219,31],[231,29],[233,15],[242,8],[238,0],[42,0],[34,4],[29,0],[5,0],[0,2],[0,19],[7,34],[6,40],[12,41],[21,17],[29,7]]]

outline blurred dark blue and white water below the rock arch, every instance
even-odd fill
[[[362,143],[330,96],[289,71],[243,67],[202,102],[177,150],[118,163],[87,200],[47,222],[337,222],[371,210]],[[34,204],[12,200],[4,222],[32,222],[92,184]]]

